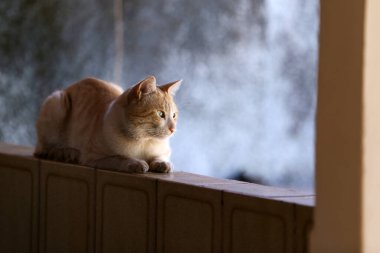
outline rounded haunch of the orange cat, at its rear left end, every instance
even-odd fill
[[[44,157],[52,148],[65,145],[65,140],[62,138],[70,108],[71,100],[64,90],[55,91],[46,98],[36,123],[35,156]]]

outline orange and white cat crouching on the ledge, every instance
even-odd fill
[[[149,76],[123,91],[85,78],[53,92],[36,122],[38,158],[124,172],[172,170],[174,94],[182,80],[157,86]]]

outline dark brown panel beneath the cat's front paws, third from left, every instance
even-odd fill
[[[97,171],[96,252],[155,252],[156,180]]]

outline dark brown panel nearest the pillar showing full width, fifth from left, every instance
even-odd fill
[[[228,192],[223,201],[225,252],[293,252],[293,204]]]

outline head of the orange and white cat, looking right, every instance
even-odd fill
[[[158,86],[149,76],[125,91],[122,100],[126,125],[135,137],[167,138],[174,134],[178,109],[173,96],[181,80]]]

